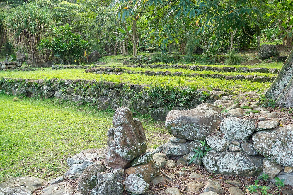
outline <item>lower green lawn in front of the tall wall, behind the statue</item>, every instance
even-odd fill
[[[88,148],[105,148],[114,111],[76,107],[57,99],[0,94],[0,183],[18,176],[49,180],[69,169],[67,157]],[[155,148],[170,137],[162,122],[137,116]]]

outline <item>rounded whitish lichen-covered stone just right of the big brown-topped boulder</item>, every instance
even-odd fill
[[[253,134],[255,124],[242,118],[225,118],[220,124],[220,130],[228,140],[246,141]]]

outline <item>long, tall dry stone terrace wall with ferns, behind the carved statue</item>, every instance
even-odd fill
[[[166,98],[156,97],[156,94],[148,92],[148,86],[128,85],[126,83],[97,82],[96,80],[63,80],[63,79],[0,79],[0,90],[7,94],[26,95],[29,97],[41,97],[68,100],[77,105],[90,103],[99,110],[112,108],[116,110],[120,106],[133,109],[140,114],[150,113],[155,120],[165,120],[171,109],[187,110],[195,108],[202,102],[213,103],[220,96],[225,95],[221,91],[194,90],[188,96],[188,100],[180,102],[175,98],[170,105],[160,100]],[[174,88],[180,94],[180,88]],[[203,92],[205,91],[205,92]]]

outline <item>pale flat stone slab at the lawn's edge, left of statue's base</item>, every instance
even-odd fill
[[[105,149],[87,149],[82,150],[79,154],[67,158],[67,164],[71,167],[73,164],[81,164],[85,160],[97,161],[104,158]]]

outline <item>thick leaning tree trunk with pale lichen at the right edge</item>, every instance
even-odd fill
[[[276,79],[265,93],[267,98],[274,99],[276,105],[281,107],[293,107],[293,48],[287,60],[280,69]]]

